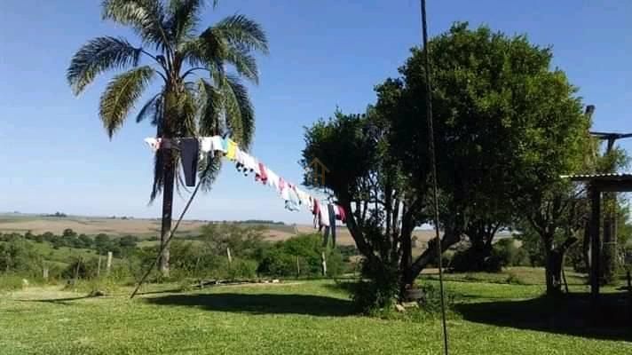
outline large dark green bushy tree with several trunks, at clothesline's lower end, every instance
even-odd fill
[[[564,73],[550,68],[550,50],[525,36],[457,23],[429,48],[441,245],[467,233],[491,246],[518,211],[538,210],[525,196],[554,191],[560,175],[576,171],[589,120]],[[430,215],[423,51],[413,50],[399,73],[377,87],[366,115],[336,113],[309,128],[302,161],[327,166],[325,187],[351,211],[347,225],[365,270],[383,280],[378,305],[389,290],[404,296],[437,257],[435,240],[415,259],[410,248],[413,229]],[[319,185],[312,177],[305,183]]]

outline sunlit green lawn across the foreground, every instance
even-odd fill
[[[451,353],[632,353],[632,328],[556,324],[554,312],[574,310],[540,298],[543,286],[531,284],[536,277],[525,276],[528,270],[513,272],[527,284],[451,275],[447,290],[456,312],[448,322]],[[423,282],[436,282],[430,278]],[[441,349],[438,319],[355,315],[348,295],[330,280],[188,293],[151,286],[134,300],[129,292],[86,298],[46,287],[4,295],[0,354],[438,354]]]

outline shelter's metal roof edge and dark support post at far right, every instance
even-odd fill
[[[599,268],[601,258],[601,195],[602,193],[632,192],[632,174],[594,174],[565,176],[571,181],[587,184],[590,199],[590,293],[593,302],[599,300]]]

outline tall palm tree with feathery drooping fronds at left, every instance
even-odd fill
[[[120,37],[94,38],[71,59],[67,80],[78,95],[97,75],[126,70],[113,77],[100,98],[99,118],[110,139],[156,80],[160,91],[136,115],[137,122],[151,120],[156,137],[169,141],[229,133],[248,148],[255,116],[241,78],[258,83],[253,54],[268,52],[265,32],[257,22],[233,15],[198,34],[204,5],[204,0],[103,1],[103,19],[133,29],[142,45],[134,46]],[[216,6],[217,0],[213,1]],[[169,145],[155,155],[150,202],[162,193],[162,243],[170,233],[174,185],[181,185],[178,160],[178,150]],[[207,164],[211,164],[209,169],[202,169]],[[218,157],[201,162],[202,187],[209,189],[219,164]],[[168,275],[168,248],[160,269]]]

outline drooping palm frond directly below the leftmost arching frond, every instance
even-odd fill
[[[144,66],[116,75],[107,84],[100,99],[99,117],[110,138],[121,127],[125,117],[154,76],[152,67]]]

